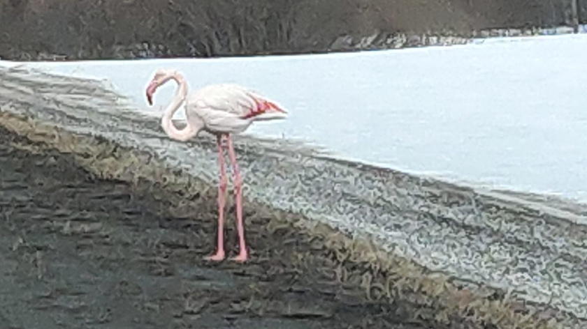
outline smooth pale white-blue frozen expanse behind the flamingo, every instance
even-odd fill
[[[145,86],[157,68],[180,70],[191,90],[236,82],[290,113],[254,125],[252,135],[449,181],[587,201],[585,54],[587,35],[574,34],[351,54],[26,66],[108,79],[154,115],[175,89],[160,89],[147,107]]]

